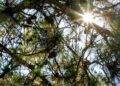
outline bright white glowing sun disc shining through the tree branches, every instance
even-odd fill
[[[92,13],[90,12],[85,12],[82,14],[82,20],[85,22],[85,23],[93,23],[94,21],[94,16]]]

